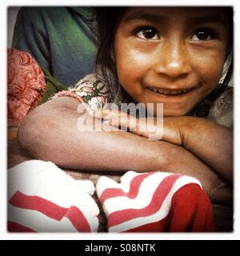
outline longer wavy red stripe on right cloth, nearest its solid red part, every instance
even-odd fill
[[[162,202],[179,177],[181,177],[181,175],[172,174],[164,178],[155,190],[153,198],[148,206],[142,209],[118,210],[110,214],[108,217],[108,227],[118,225],[134,218],[146,217],[156,213],[161,208]]]

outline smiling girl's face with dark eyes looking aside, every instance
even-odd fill
[[[220,8],[130,8],[115,34],[119,81],[164,116],[185,115],[218,84],[228,37]]]

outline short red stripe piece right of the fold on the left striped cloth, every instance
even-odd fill
[[[90,225],[78,207],[70,206],[65,217],[69,218],[70,222],[73,224],[75,229],[78,230],[78,232],[90,232]]]

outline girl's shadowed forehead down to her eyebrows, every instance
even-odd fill
[[[227,7],[132,7],[126,11],[123,22],[138,19],[152,21],[183,20],[186,22],[219,22],[229,24]]]

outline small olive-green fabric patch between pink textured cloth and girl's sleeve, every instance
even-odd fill
[[[53,78],[47,70],[42,69],[42,71],[45,74],[46,92],[45,94],[43,94],[42,99],[38,103],[38,105],[46,102],[53,94],[56,94],[58,91],[67,90],[67,87],[63,86],[62,83],[58,82],[58,80]]]

